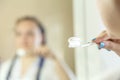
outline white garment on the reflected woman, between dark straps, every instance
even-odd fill
[[[8,70],[12,60],[3,63],[0,67],[0,80],[6,80]],[[39,59],[37,59],[29,68],[24,76],[21,74],[21,60],[17,59],[9,80],[36,80]],[[46,59],[40,75],[40,80],[60,80],[55,70],[55,63],[51,59]]]

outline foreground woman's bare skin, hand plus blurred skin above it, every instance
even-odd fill
[[[97,0],[106,31],[93,42],[105,43],[105,49],[113,50],[120,56],[120,0]]]

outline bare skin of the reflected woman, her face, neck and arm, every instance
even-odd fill
[[[69,76],[65,72],[64,68],[60,65],[59,60],[50,51],[50,49],[44,45],[41,45],[42,35],[38,26],[32,21],[22,21],[15,27],[15,42],[16,49],[22,48],[27,52],[27,55],[21,58],[22,70],[21,76],[23,76],[29,66],[36,60],[38,53],[45,58],[51,58],[56,64],[56,69],[61,80],[70,80]]]

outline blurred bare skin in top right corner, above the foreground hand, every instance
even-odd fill
[[[109,36],[120,38],[120,0],[97,0]]]

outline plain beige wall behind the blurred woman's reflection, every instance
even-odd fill
[[[72,0],[0,0],[1,58],[6,60],[13,56],[14,23],[24,15],[33,15],[42,22],[48,45],[74,70],[74,52],[67,43],[73,36]]]

